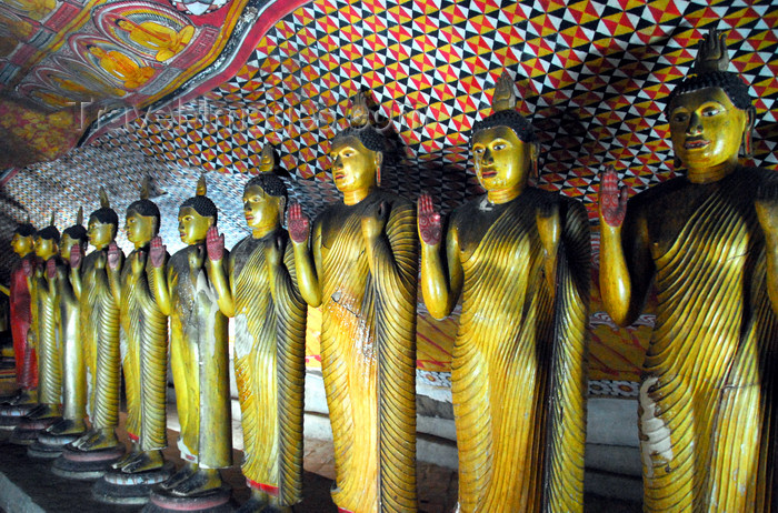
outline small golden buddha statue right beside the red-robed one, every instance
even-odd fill
[[[62,403],[62,362],[57,336],[59,302],[56,290],[49,288],[46,266],[49,259],[59,253],[59,230],[51,215],[49,227],[36,233],[36,255],[38,265],[30,276],[32,291],[32,331],[38,354],[38,406],[27,414],[27,419],[41,420],[60,416]]]

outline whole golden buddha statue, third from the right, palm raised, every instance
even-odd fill
[[[416,292],[413,204],[380,189],[388,141],[370,124],[332,140],[332,178],[343,202],[313,222],[289,213],[302,298],[321,306],[321,366],[335,443],[340,511],[412,512],[416,500]]]

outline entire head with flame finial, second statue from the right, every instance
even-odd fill
[[[513,81],[503,73],[495,88],[488,118],[472,127],[472,153],[478,182],[490,201],[510,201],[523,191],[537,164],[539,144],[532,125],[516,108]]]

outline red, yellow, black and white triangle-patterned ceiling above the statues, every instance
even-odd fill
[[[315,1],[278,21],[232,79],[113,137],[170,163],[241,173],[271,143],[297,179],[330,183],[329,140],[349,98],[369,90],[403,147],[387,184],[411,198],[429,191],[449,211],[478,192],[470,130],[491,112],[505,69],[540,138],[540,187],[591,204],[605,164],[630,193],[674,175],[664,99],[709,28],[728,31],[730,70],[757,98],[752,163],[776,168],[770,2]],[[317,211],[321,198],[310,200]]]

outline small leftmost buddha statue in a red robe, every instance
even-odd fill
[[[11,249],[20,258],[11,270],[9,290],[4,291],[10,299],[11,338],[13,340],[17,385],[19,386],[19,394],[13,398],[11,405],[36,404],[38,402],[36,393],[38,359],[36,350],[27,343],[27,334],[32,322],[31,291],[28,278],[32,276],[37,263],[34,234],[36,229],[28,221],[20,224],[11,238]]]

